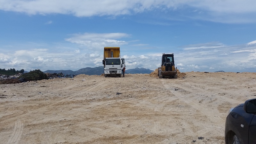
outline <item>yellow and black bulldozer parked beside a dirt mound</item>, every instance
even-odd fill
[[[174,58],[172,54],[164,54],[162,56],[161,68],[158,68],[159,78],[170,77],[178,78],[177,76],[177,67],[174,65]]]

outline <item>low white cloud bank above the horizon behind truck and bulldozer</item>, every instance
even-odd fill
[[[81,38],[81,37],[86,38]],[[71,37],[81,41],[94,41],[99,36],[100,38],[118,39],[121,40],[127,34],[81,34],[77,37]],[[116,38],[116,39],[115,39]],[[68,41],[69,42],[69,41]],[[68,43],[67,42],[67,43]],[[99,43],[99,44],[98,44]],[[129,43],[128,43],[129,44]],[[43,45],[43,46],[42,46]],[[42,71],[51,70],[78,70],[86,67],[98,67],[102,65],[103,47],[101,41],[94,41],[88,45],[80,46],[79,43],[45,45],[40,43],[29,43],[12,45],[19,47],[19,50],[0,53],[1,68],[15,68],[17,70],[33,70],[41,69]],[[100,45],[100,47],[95,47]],[[8,45],[9,46],[9,45]],[[119,45],[120,46],[120,45]],[[1,46],[5,47],[5,46]],[[44,47],[44,48],[42,48]],[[189,48],[188,48],[189,47]],[[193,47],[200,47],[199,49]],[[27,49],[28,48],[28,49]],[[27,50],[25,50],[27,49]],[[136,49],[136,47],[134,47]],[[174,54],[175,66],[181,72],[187,71],[233,71],[233,72],[255,72],[256,71],[256,45],[233,45],[229,46],[219,42],[184,45],[176,50]],[[122,48],[121,57],[125,59],[126,68],[148,68],[155,70],[161,66],[162,53],[131,53],[130,46]],[[206,51],[207,50],[207,51]]]

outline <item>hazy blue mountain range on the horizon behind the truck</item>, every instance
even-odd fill
[[[146,68],[132,68],[125,70],[126,74],[150,74],[153,72],[153,70],[146,69]],[[104,67],[96,67],[96,68],[81,68],[77,71],[72,70],[46,70],[44,73],[62,73],[66,75],[79,75],[79,74],[85,74],[85,75],[101,75],[104,74]]]

